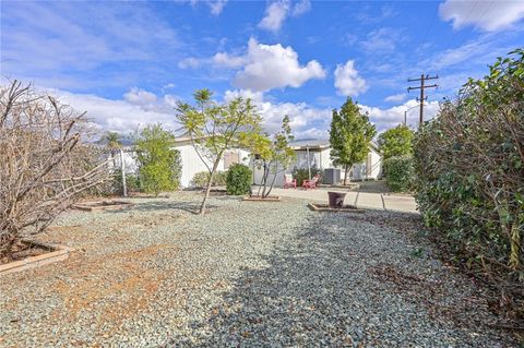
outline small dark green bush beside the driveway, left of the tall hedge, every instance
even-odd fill
[[[406,192],[412,189],[413,157],[393,156],[384,160],[385,184],[393,192]]]

